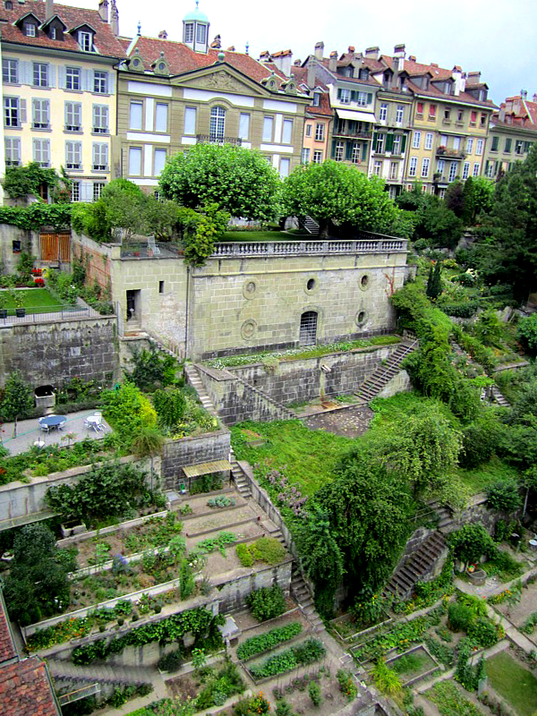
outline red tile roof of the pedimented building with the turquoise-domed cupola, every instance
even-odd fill
[[[122,44],[125,45],[125,40],[122,40]],[[129,45],[127,45],[129,47]],[[193,70],[199,70],[203,67],[210,67],[212,64],[217,64],[218,55],[224,53],[224,62],[230,64],[235,70],[243,72],[251,80],[260,82],[268,79],[270,74],[274,72],[278,87],[282,81],[286,81],[286,75],[278,70],[276,64],[273,63],[260,63],[255,60],[251,55],[245,55],[242,52],[229,52],[219,49],[209,49],[207,54],[194,52],[190,47],[183,44],[183,42],[175,42],[169,39],[160,38],[136,38],[135,43],[132,45],[129,57],[133,57],[136,49],[139,50],[139,56],[143,61],[146,70],[151,69],[151,64],[157,62],[160,58],[161,53],[164,53],[164,59],[168,64],[170,74],[183,74],[184,72],[192,72]]]

